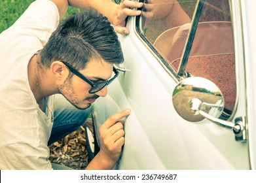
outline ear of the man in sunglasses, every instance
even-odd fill
[[[50,69],[58,84],[62,84],[69,75],[69,69],[65,67],[65,64],[62,63],[62,61],[53,61],[50,65]]]

